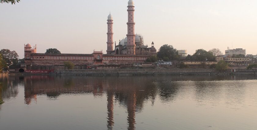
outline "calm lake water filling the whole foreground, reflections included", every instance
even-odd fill
[[[256,130],[257,76],[9,76],[1,130]]]

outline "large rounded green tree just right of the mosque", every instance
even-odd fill
[[[167,57],[169,60],[175,60],[175,59],[179,59],[179,54],[177,49],[173,48],[173,46],[165,44],[160,47],[157,53],[157,57],[163,60],[164,60],[164,57]]]

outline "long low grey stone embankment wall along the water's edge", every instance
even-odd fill
[[[55,70],[61,74],[140,74],[140,73],[211,73],[215,69],[87,69],[87,70]]]

